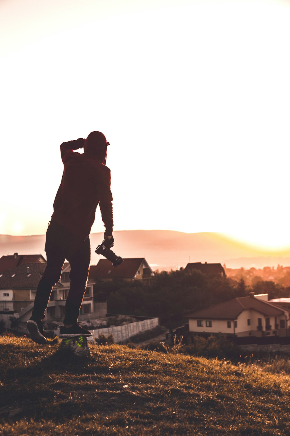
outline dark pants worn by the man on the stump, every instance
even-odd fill
[[[32,317],[44,319],[51,290],[61,278],[61,271],[67,259],[71,266],[69,274],[71,283],[65,303],[64,324],[74,324],[78,320],[89,276],[91,260],[89,237],[82,241],[55,221],[51,221],[46,232],[44,250],[47,266],[36,290]]]

